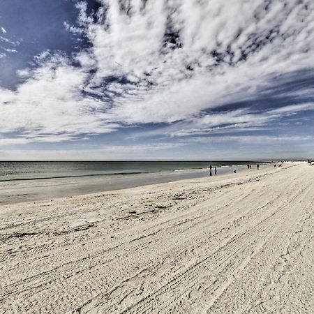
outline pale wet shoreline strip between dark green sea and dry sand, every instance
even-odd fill
[[[269,167],[271,164],[264,164]],[[151,184],[163,184],[174,181],[196,178],[210,178],[232,173],[233,170],[242,172],[244,165],[226,165],[218,167],[218,173],[209,176],[209,168],[190,170],[167,170],[163,172],[142,172],[140,174],[105,174],[80,177],[55,177],[49,179],[24,179],[0,182],[0,205],[19,202],[36,202],[59,197],[89,195],[105,191],[124,190]],[[251,171],[255,171],[252,169]]]

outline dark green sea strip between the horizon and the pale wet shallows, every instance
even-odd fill
[[[209,165],[219,168],[247,165],[247,163],[239,161],[0,161],[0,181],[205,170]]]

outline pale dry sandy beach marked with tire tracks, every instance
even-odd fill
[[[314,313],[314,167],[0,207],[0,313]]]

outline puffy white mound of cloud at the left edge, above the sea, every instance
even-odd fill
[[[1,132],[45,134],[50,141],[51,135],[68,139],[69,135],[114,130],[118,124],[101,112],[105,104],[82,94],[87,77],[88,73],[70,66],[67,59],[53,56],[16,91],[0,89]]]

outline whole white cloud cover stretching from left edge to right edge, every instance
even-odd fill
[[[80,67],[44,51],[35,57],[38,68],[19,71],[24,82],[16,90],[0,87],[1,133],[59,141],[125,125],[172,123],[157,133],[195,135],[231,129],[225,124],[258,128],[314,109],[202,113],[252,100],[272,90],[274,78],[314,64],[313,1],[271,1],[268,8],[262,0],[121,2],[128,10],[103,0],[98,22],[80,2],[81,27],[64,24],[90,40],[91,49],[73,56]]]

